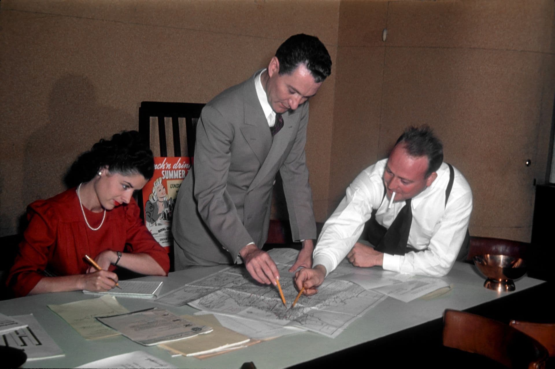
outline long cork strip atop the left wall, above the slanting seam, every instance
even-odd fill
[[[2,8],[278,41],[303,32],[335,44],[339,4],[339,0],[4,0]]]

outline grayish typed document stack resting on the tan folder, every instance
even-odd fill
[[[181,340],[212,331],[211,327],[195,325],[157,307],[127,314],[97,317],[97,320],[144,346]]]

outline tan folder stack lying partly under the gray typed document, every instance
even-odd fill
[[[221,326],[214,315],[184,315],[181,317],[199,326],[210,326],[214,331],[210,335],[200,335],[190,340],[180,340],[159,345],[178,355],[199,356],[229,351],[244,347],[243,345],[250,341],[249,337]]]

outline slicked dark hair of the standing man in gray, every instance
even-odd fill
[[[287,38],[275,56],[279,60],[279,74],[290,74],[299,64],[305,64],[316,83],[324,81],[331,74],[330,54],[314,36],[300,33]]]

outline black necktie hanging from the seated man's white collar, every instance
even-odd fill
[[[408,233],[411,231],[412,208],[411,199],[405,202],[405,206],[397,214],[393,223],[381,239],[376,251],[391,255],[405,255],[407,251]]]

